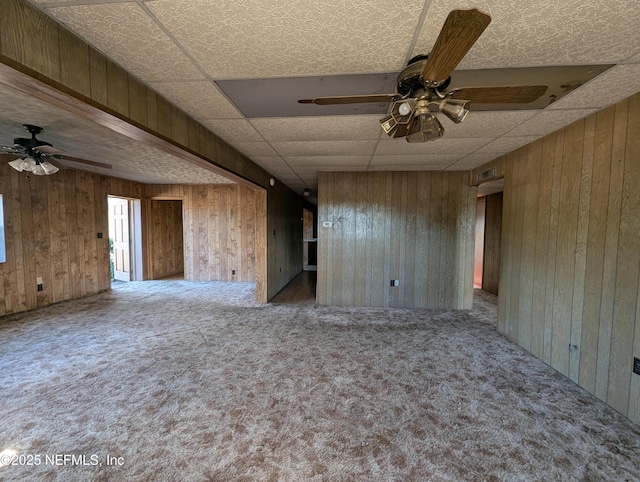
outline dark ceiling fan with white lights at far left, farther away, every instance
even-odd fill
[[[106,169],[112,167],[110,164],[63,156],[64,151],[36,137],[44,130],[42,127],[33,124],[23,124],[22,126],[31,134],[31,137],[16,137],[13,139],[13,146],[0,146],[0,153],[25,156],[9,162],[9,165],[18,172],[26,171],[36,176],[55,174],[59,171],[56,161],[65,160]]]

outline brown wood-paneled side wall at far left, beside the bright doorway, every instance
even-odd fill
[[[0,315],[109,289],[109,178],[64,169],[27,179],[9,159],[0,156],[7,250]]]

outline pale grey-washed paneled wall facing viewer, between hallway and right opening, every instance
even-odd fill
[[[466,171],[319,173],[318,303],[470,308],[476,194]]]

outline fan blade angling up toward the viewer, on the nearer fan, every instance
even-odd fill
[[[489,23],[491,17],[475,8],[449,13],[422,69],[426,85],[447,80]]]

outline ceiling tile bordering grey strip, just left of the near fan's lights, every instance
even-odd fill
[[[252,119],[251,124],[270,141],[375,140],[380,116],[278,117]]]

